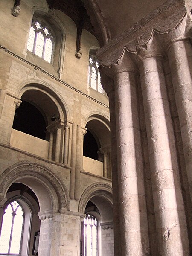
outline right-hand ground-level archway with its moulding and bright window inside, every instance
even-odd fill
[[[84,208],[86,214],[81,224],[81,256],[114,255],[111,194],[92,186],[87,188],[89,195],[84,192],[79,204],[79,209]]]

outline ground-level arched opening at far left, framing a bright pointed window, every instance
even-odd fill
[[[0,214],[0,254],[37,255],[40,232],[37,196],[28,186],[15,182],[6,198]]]

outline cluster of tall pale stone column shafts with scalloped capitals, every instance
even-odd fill
[[[109,85],[103,79],[105,74],[101,73],[102,85],[108,93],[110,104],[113,207],[114,210],[119,207],[116,211],[118,216],[114,214],[115,256],[150,254],[153,239],[157,239],[158,248],[151,251],[156,250],[159,256],[190,254],[188,236],[192,227],[190,221],[186,220],[187,205],[183,201],[183,193],[186,192],[180,180],[179,152],[170,112],[172,102],[169,102],[163,70],[163,58],[167,52],[192,198],[192,47],[189,38],[184,36],[183,26],[186,26],[186,17],[177,29],[165,35],[153,34],[144,45],[143,41],[138,43],[134,52],[124,49],[120,55],[119,50],[103,61],[102,70],[114,81],[113,90],[112,83]],[[166,43],[164,51],[159,43],[160,38],[163,38],[161,42]],[[144,107],[144,111],[138,110],[139,83],[143,98],[139,108]],[[154,232],[148,234],[150,219],[147,218],[150,207],[146,209],[145,202],[141,113],[145,115],[151,198],[156,221],[156,238],[152,240]],[[117,159],[115,168],[113,157]],[[119,224],[120,234],[117,231]]]

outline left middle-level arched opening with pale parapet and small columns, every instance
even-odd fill
[[[62,161],[64,113],[61,106],[41,85],[27,85],[15,110],[10,144],[23,151]]]

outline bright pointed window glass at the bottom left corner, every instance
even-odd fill
[[[0,233],[0,254],[20,254],[23,222],[23,208],[17,201],[12,201],[6,206],[3,212]]]

